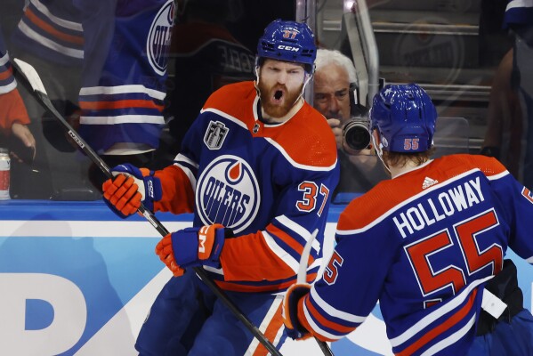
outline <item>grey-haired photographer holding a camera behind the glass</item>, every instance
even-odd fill
[[[349,201],[353,194],[338,193],[364,193],[388,175],[369,144],[369,134],[366,136],[367,109],[358,103],[354,94],[357,73],[353,62],[338,51],[319,49],[315,65],[313,106],[327,118],[335,134],[341,179],[334,198],[342,203]]]

